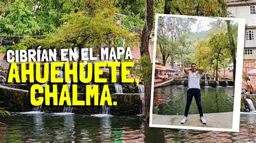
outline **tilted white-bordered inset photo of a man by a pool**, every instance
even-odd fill
[[[245,19],[157,14],[155,29],[150,126],[239,131]]]

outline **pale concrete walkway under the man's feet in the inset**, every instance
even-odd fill
[[[206,125],[201,123],[199,114],[188,115],[185,124],[180,124],[184,115],[156,115],[152,114],[152,124],[175,125],[175,126],[194,126],[194,127],[215,127],[232,128],[233,112],[223,113],[204,113]]]

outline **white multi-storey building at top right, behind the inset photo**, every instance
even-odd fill
[[[226,0],[227,10],[233,18],[245,18],[244,59],[256,59],[256,0]]]

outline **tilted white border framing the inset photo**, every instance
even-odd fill
[[[234,84],[234,104],[233,104],[233,120],[232,128],[214,128],[214,127],[195,127],[195,126],[174,126],[174,125],[158,125],[152,124],[152,112],[153,112],[153,96],[154,96],[154,69],[156,68],[156,47],[157,47],[157,28],[158,17],[184,17],[184,18],[215,18],[221,20],[236,20],[238,22],[238,41],[237,41],[237,56],[236,56],[236,68],[235,68],[235,84]],[[151,101],[150,101],[150,127],[161,128],[179,128],[179,129],[193,129],[193,130],[205,130],[205,131],[228,131],[239,132],[240,121],[240,101],[241,101],[241,83],[242,83],[242,65],[243,65],[243,53],[245,42],[245,19],[243,18],[221,18],[221,17],[199,17],[199,16],[183,16],[183,15],[166,15],[156,14],[156,22],[154,26],[154,49],[153,49],[153,68],[152,68],[152,83],[151,83]]]

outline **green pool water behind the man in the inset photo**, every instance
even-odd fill
[[[201,103],[204,113],[233,111],[233,87],[201,87]],[[184,115],[187,87],[171,85],[154,89],[153,113],[159,115]],[[188,114],[198,114],[195,99]]]

